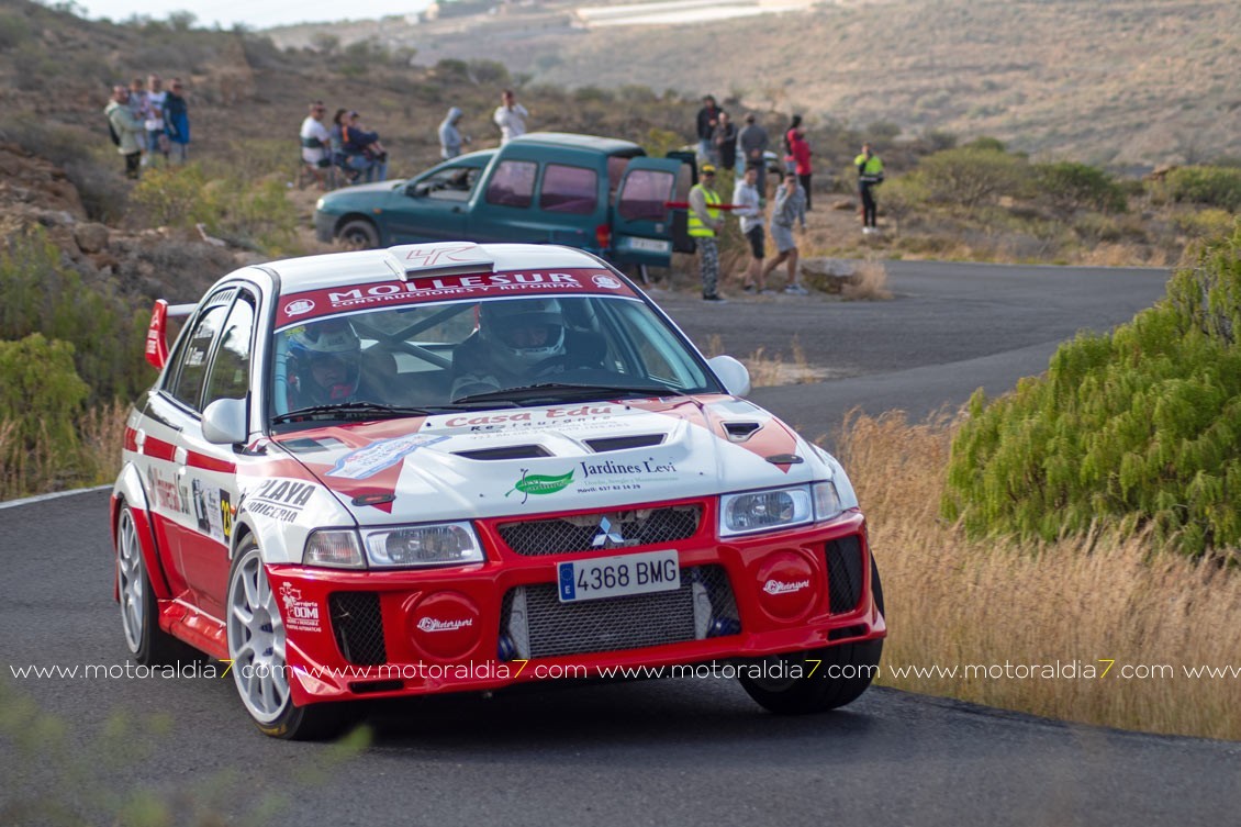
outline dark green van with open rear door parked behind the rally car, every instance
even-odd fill
[[[329,192],[315,207],[324,242],[390,247],[426,241],[578,247],[616,264],[668,267],[692,252],[684,204],[692,156],[649,158],[628,140],[531,133],[407,180]]]

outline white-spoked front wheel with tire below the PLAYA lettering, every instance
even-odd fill
[[[233,684],[258,729],[289,740],[335,735],[346,723],[340,704],[293,703],[284,618],[253,536],[242,541],[228,572],[227,612]]]

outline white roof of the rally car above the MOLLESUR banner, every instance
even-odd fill
[[[261,267],[279,278],[280,294],[288,296],[441,273],[606,268],[607,266],[587,252],[557,245],[480,245],[472,241],[441,241],[401,245],[387,250],[285,258]]]

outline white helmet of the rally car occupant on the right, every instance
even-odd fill
[[[496,365],[509,373],[522,374],[565,354],[565,315],[553,298],[484,302],[478,328]]]

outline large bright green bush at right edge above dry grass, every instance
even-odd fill
[[[1112,334],[1080,334],[1047,374],[952,446],[943,513],[973,535],[1052,540],[1150,526],[1188,554],[1241,545],[1241,222]]]

